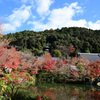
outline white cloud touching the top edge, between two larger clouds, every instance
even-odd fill
[[[49,7],[53,3],[53,0],[35,0],[37,5],[37,12],[39,15],[47,15],[49,13]]]

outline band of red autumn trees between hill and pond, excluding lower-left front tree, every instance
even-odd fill
[[[53,60],[51,55],[45,54],[42,59],[32,56],[27,58],[25,54],[17,51],[14,47],[9,47],[7,40],[0,43],[0,71],[5,73],[5,69],[10,71],[19,70],[20,73],[30,75],[38,72],[69,74],[71,77],[98,78],[100,76],[100,61],[90,63],[86,58],[74,57],[71,61]],[[70,52],[74,47],[70,47]],[[76,66],[73,69],[71,66]],[[69,76],[67,75],[67,76]]]

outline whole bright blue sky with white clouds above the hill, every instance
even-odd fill
[[[100,29],[100,0],[0,0],[5,34],[62,27]]]

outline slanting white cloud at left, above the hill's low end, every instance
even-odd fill
[[[31,6],[21,6],[19,9],[15,9],[13,14],[9,15],[6,19],[8,23],[4,24],[6,31],[15,31],[17,27],[20,27],[25,23],[31,15]]]

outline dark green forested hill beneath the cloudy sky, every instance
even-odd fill
[[[4,38],[11,38],[10,45],[19,46],[20,49],[29,49],[35,55],[43,53],[43,48],[48,45],[52,50],[58,49],[66,55],[66,48],[73,45],[75,53],[91,52],[100,53],[100,30],[71,27],[41,32],[21,31],[10,33]],[[63,48],[63,49],[61,49]]]

